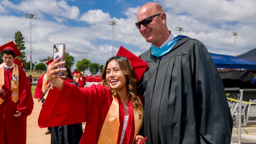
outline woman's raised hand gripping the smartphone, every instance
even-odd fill
[[[55,87],[58,90],[62,90],[62,87],[63,87],[63,80],[61,80],[60,78],[66,77],[66,76],[56,75],[57,72],[66,71],[66,68],[55,69],[57,66],[60,66],[65,63],[65,61],[58,62],[60,59],[61,59],[61,57],[57,58],[55,61],[53,61],[51,64],[49,64],[47,67],[47,73],[46,73],[47,80],[52,85],[55,85]]]

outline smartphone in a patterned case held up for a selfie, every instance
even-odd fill
[[[55,61],[59,57],[61,57],[59,62],[65,61],[65,44],[64,43],[53,45],[53,60]],[[58,68],[65,68],[65,64],[58,66],[55,69],[58,69]],[[63,76],[64,72],[63,71],[57,72],[56,75]]]

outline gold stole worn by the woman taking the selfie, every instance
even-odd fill
[[[142,105],[139,99],[139,103]],[[135,135],[133,141],[142,127],[143,123],[143,110],[133,108],[133,116],[135,122]],[[106,119],[103,123],[100,132],[98,144],[116,144],[119,133],[119,103],[118,99],[113,96],[113,102],[109,108]]]

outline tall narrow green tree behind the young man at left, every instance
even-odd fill
[[[25,50],[26,47],[24,46],[24,37],[22,36],[20,31],[17,31],[14,35],[14,42],[15,45],[18,47],[19,51],[21,52],[21,50]],[[25,52],[21,52],[21,55],[19,57],[17,57],[20,61],[22,61],[24,64],[26,63],[26,53]]]

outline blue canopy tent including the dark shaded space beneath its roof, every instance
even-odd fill
[[[256,62],[229,55],[209,54],[217,68],[240,69],[235,71],[219,70],[224,87],[256,88],[256,85],[253,84],[253,74],[256,72]]]

